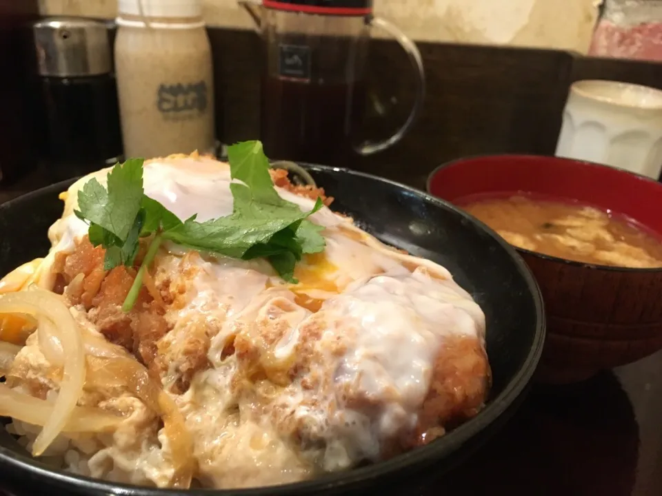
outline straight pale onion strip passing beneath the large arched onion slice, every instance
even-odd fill
[[[28,424],[46,425],[53,415],[54,406],[46,400],[19,393],[5,384],[0,384],[0,415],[12,417]],[[88,406],[74,407],[62,431],[69,433],[92,433],[110,431],[122,422],[123,417]]]

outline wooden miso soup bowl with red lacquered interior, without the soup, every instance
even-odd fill
[[[428,192],[450,203],[530,192],[611,209],[662,234],[662,184],[566,158],[477,156],[441,165]],[[662,349],[662,269],[590,265],[517,249],[540,286],[548,333],[545,382],[573,382]]]

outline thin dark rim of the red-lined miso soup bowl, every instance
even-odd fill
[[[596,162],[591,162],[591,161],[585,161],[585,160],[579,160],[577,158],[568,158],[568,157],[559,157],[559,156],[553,156],[553,155],[536,155],[536,154],[515,154],[515,153],[503,153],[503,154],[475,154],[475,155],[468,155],[460,158],[454,158],[452,161],[444,162],[440,165],[437,165],[437,167],[434,167],[432,172],[428,174],[428,179],[425,181],[425,191],[428,192],[428,194],[434,196],[432,194],[432,180],[434,179],[434,176],[437,175],[438,172],[440,172],[443,169],[447,169],[448,167],[459,167],[462,165],[464,162],[467,161],[473,161],[479,158],[525,158],[528,160],[540,160],[541,158],[545,159],[552,159],[555,161],[563,161],[566,163],[575,163],[577,165],[580,165],[581,167],[592,167],[596,169],[615,169],[616,172],[619,172],[621,174],[629,174],[630,176],[634,176],[634,178],[648,182],[648,183],[654,183],[660,188],[660,192],[662,193],[662,183],[659,181],[656,181],[648,176],[644,176],[643,174],[639,174],[637,172],[632,172],[627,169],[623,169],[621,167],[612,167],[611,165],[604,165]],[[440,198],[439,196],[435,196],[435,198],[439,198],[443,200],[443,198]],[[447,201],[447,200],[444,200]],[[452,203],[452,205],[455,205]],[[455,205],[457,207],[457,205]],[[458,207],[461,209],[461,207]],[[473,216],[472,216],[473,217]],[[477,220],[479,223],[481,223],[483,226],[488,227],[485,223],[483,223],[481,220],[477,219],[474,217],[474,220]],[[498,236],[498,235],[497,235]],[[568,258],[561,258],[553,255],[545,255],[541,254],[538,251],[532,251],[530,249],[525,249],[525,248],[520,248],[516,247],[514,245],[511,245],[516,251],[523,253],[528,256],[533,256],[536,258],[541,258],[543,260],[547,260],[548,262],[555,262],[555,263],[561,263],[563,265],[570,265],[571,267],[583,267],[585,269],[596,269],[600,271],[608,271],[608,272],[619,272],[619,273],[656,273],[662,271],[662,267],[618,267],[616,265],[601,265],[601,264],[592,264],[592,263],[586,263],[586,262],[577,262],[576,260],[570,260]]]

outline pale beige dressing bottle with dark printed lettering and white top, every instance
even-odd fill
[[[214,85],[200,0],[119,0],[115,71],[126,157],[214,151]]]

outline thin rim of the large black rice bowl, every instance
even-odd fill
[[[505,385],[501,393],[492,398],[485,408],[475,417],[468,420],[461,426],[454,428],[443,437],[439,438],[437,442],[432,442],[426,446],[420,446],[412,451],[403,453],[391,459],[382,462],[370,464],[368,466],[361,466],[352,468],[348,471],[338,473],[330,473],[322,475],[310,480],[301,482],[294,482],[289,484],[281,484],[278,486],[259,486],[256,488],[242,488],[242,489],[188,489],[177,490],[171,488],[151,488],[146,486],[137,486],[134,484],[119,484],[108,482],[103,479],[94,479],[92,477],[83,475],[74,475],[73,473],[64,472],[54,468],[48,468],[34,462],[29,455],[21,456],[21,459],[15,457],[14,451],[0,446],[0,470],[16,470],[27,471],[32,477],[50,479],[55,484],[60,486],[63,484],[72,484],[74,487],[81,488],[88,491],[97,491],[105,494],[126,494],[130,496],[168,496],[168,495],[217,495],[217,496],[285,496],[285,495],[308,495],[314,494],[322,490],[341,490],[342,488],[352,486],[365,482],[368,479],[375,479],[377,477],[384,477],[386,475],[400,472],[406,468],[413,468],[414,466],[424,466],[428,462],[433,462],[434,459],[441,459],[443,453],[452,456],[462,444],[472,439],[472,437],[481,433],[490,424],[492,424],[498,417],[508,410],[510,404],[516,401],[522,393],[527,390],[528,384],[532,379],[536,367],[541,358],[543,351],[543,344],[546,334],[545,311],[541,290],[533,276],[532,271],[523,260],[521,255],[511,246],[505,242],[501,236],[496,234],[490,227],[485,226],[483,223],[475,219],[470,214],[466,213],[459,207],[452,203],[442,200],[423,192],[421,189],[416,189],[408,185],[397,183],[397,181],[387,178],[374,176],[365,172],[359,172],[344,167],[330,167],[327,165],[314,165],[309,163],[298,162],[305,169],[310,172],[325,172],[325,173],[340,173],[348,174],[350,176],[358,176],[368,178],[369,180],[385,183],[395,187],[403,192],[407,192],[413,196],[417,196],[426,203],[431,203],[435,207],[451,210],[454,214],[460,216],[469,223],[474,223],[483,231],[486,231],[494,240],[501,245],[501,247],[512,258],[514,266],[518,269],[519,274],[523,278],[525,285],[530,291],[530,295],[534,304],[534,312],[536,314],[536,326],[533,333],[532,344],[528,350],[521,367],[514,374],[512,380]],[[74,183],[77,178],[63,180],[59,183],[54,183],[46,187],[42,187],[28,194],[21,195],[13,198],[6,203],[0,205],[0,210],[4,208],[12,208],[17,205],[21,200],[26,200],[34,197],[39,197],[43,194],[51,194],[53,192],[66,191],[66,189]],[[439,444],[441,440],[445,442]],[[436,445],[436,446],[435,446]]]

